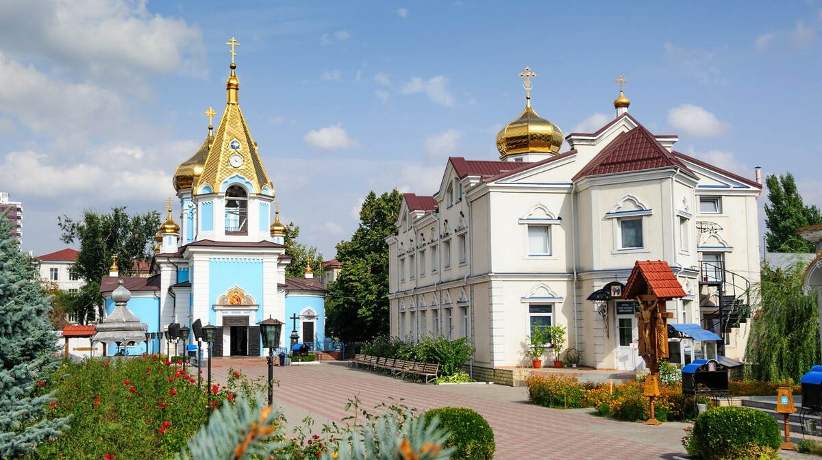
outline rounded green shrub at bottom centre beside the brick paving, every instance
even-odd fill
[[[468,407],[440,407],[425,413],[426,423],[439,417],[440,426],[450,430],[444,447],[455,447],[454,460],[489,460],[494,458],[494,431],[483,416]]]

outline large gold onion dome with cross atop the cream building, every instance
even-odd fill
[[[537,75],[525,67],[525,73],[520,76],[525,77],[525,109],[520,117],[496,133],[496,150],[500,151],[501,158],[512,154],[557,154],[562,146],[562,130],[531,108],[530,78]]]

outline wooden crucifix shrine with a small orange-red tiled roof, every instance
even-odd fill
[[[637,260],[622,291],[623,299],[640,303],[636,314],[640,329],[640,357],[651,374],[645,379],[645,396],[650,401],[650,416],[646,425],[659,425],[653,414],[653,398],[659,396],[659,361],[668,357],[667,312],[665,302],[685,297],[686,292],[664,260]]]

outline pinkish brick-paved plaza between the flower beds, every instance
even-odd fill
[[[216,358],[214,379],[224,381],[233,366],[252,377],[267,375],[265,358]],[[205,373],[205,372],[204,372]],[[366,370],[349,368],[344,362],[314,366],[275,367],[275,403],[283,407],[289,426],[302,417],[315,420],[315,432],[323,423],[344,416],[349,398],[358,395],[363,407],[404,398],[410,407],[470,407],[483,414],[496,438],[498,460],[525,459],[671,459],[686,455],[680,439],[690,424],[612,421],[590,415],[590,409],[558,410],[526,403],[527,390],[501,385],[423,385],[392,379]],[[785,457],[788,457],[785,455]],[[806,458],[792,454],[790,458]]]

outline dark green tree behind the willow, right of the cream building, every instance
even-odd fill
[[[765,205],[766,246],[770,252],[813,252],[813,243],[797,235],[797,229],[822,223],[815,205],[806,206],[797,191],[793,175],[770,175],[765,178],[769,205]]]

